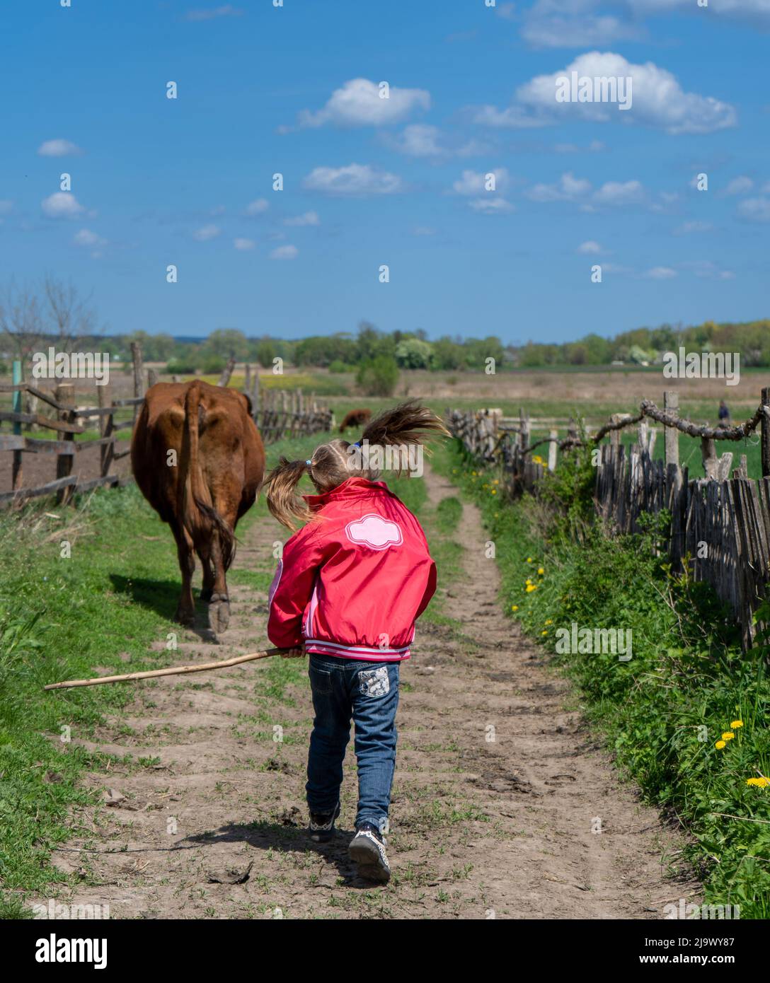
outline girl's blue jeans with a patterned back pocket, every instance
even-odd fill
[[[311,655],[308,674],[316,712],[305,786],[310,811],[331,812],[337,804],[352,718],[358,762],[356,826],[372,823],[383,831],[395,769],[398,663]]]

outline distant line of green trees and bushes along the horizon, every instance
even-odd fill
[[[377,376],[397,378],[401,370],[484,372],[494,359],[495,371],[506,368],[557,366],[657,365],[664,354],[683,347],[687,352],[739,352],[744,367],[770,366],[770,320],[715,323],[684,327],[662,324],[638,327],[612,338],[587,334],[577,341],[549,344],[528,341],[503,345],[500,338],[463,338],[444,335],[429,341],[425,331],[380,331],[362,321],[355,332],[337,331],[299,340],[268,334],[247,336],[235,328],[218,328],[206,338],[175,338],[170,334],[104,333],[90,299],[72,283],[46,274],[39,284],[19,287],[12,280],[0,287],[0,372],[8,361],[48,345],[59,350],[109,352],[113,361],[128,363],[131,343],[140,342],[146,362],[164,363],[167,372],[191,375],[218,373],[229,358],[272,368],[275,359],[286,366],[321,367],[334,373],[355,373],[359,384],[376,387]],[[368,381],[364,381],[368,380]],[[394,384],[394,383],[393,383]]]

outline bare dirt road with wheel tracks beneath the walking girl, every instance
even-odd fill
[[[453,494],[427,481],[432,506]],[[224,644],[183,633],[168,665],[262,646],[283,538],[271,519],[250,528]],[[77,837],[54,856],[82,888],[60,900],[109,904],[113,918],[594,919],[697,899],[662,864],[677,865],[677,835],[620,784],[567,684],[503,616],[485,539],[465,504],[464,578],[445,606],[462,632],[418,626],[403,666],[390,885],[357,881],[347,859],[350,753],[339,835],[306,837],[310,690],[304,662],[270,660],[139,684],[129,719],[83,742],[118,756],[89,781],[125,798],[73,817]]]

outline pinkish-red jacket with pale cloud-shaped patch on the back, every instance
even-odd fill
[[[367,662],[409,658],[414,623],[436,591],[420,523],[385,486],[349,478],[305,495],[316,512],[283,548],[267,636],[279,648]]]

